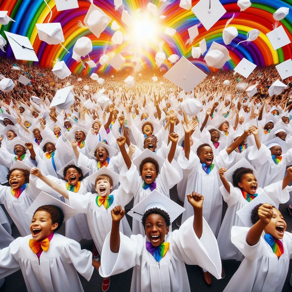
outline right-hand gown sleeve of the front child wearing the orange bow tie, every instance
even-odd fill
[[[69,239],[62,250],[62,257],[68,264],[73,264],[77,272],[87,281],[90,280],[94,267],[92,265],[92,253],[86,249],[81,249],[80,244]]]

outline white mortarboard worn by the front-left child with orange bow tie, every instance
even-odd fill
[[[59,207],[64,214],[64,222],[77,214],[77,211],[75,209],[45,192],[41,192],[38,195],[38,197],[34,200],[34,202],[30,205],[25,213],[32,217],[36,209],[44,205],[53,205]]]

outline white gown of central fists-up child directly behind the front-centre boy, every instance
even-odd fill
[[[178,163],[173,160],[170,164],[168,159],[166,159],[160,169],[157,178],[155,179],[155,190],[170,198],[169,190],[182,178],[183,172]],[[119,179],[121,187],[125,190],[125,192],[134,196],[133,206],[136,206],[140,201],[142,201],[142,199],[151,193],[150,187],[147,190],[142,188],[144,180],[140,176],[137,167],[133,163],[131,164],[129,170],[127,170],[125,167],[124,171],[121,171]],[[145,235],[141,222],[138,222],[137,220],[133,220],[132,230],[133,234],[142,234],[143,236]]]

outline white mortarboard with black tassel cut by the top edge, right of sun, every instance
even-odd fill
[[[209,30],[226,12],[219,0],[200,0],[192,12],[206,30]]]

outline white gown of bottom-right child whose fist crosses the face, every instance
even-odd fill
[[[232,227],[231,241],[244,254],[245,259],[223,292],[281,292],[292,253],[292,234],[284,233],[284,253],[278,259],[265,241],[264,232],[256,245],[248,245],[248,230],[248,227]]]

